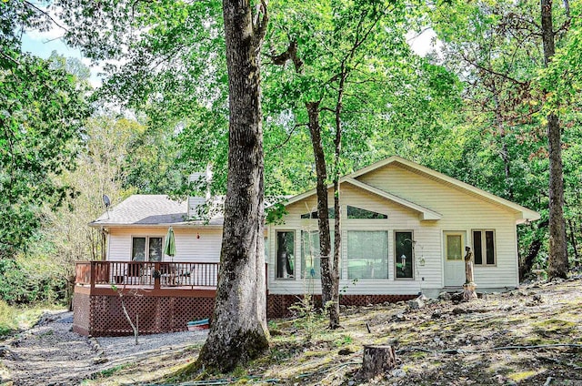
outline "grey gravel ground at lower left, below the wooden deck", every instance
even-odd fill
[[[134,337],[86,338],[71,330],[72,312],[46,314],[41,322],[0,341],[0,385],[77,385],[93,374],[150,355],[202,343],[206,331]]]

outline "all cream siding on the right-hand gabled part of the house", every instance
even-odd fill
[[[472,245],[473,229],[495,229],[496,259],[494,267],[475,268],[479,289],[503,289],[517,285],[516,212],[502,208],[475,193],[454,187],[433,177],[421,175],[407,168],[390,164],[360,176],[358,180],[396,195],[399,198],[436,211],[439,220],[421,220],[420,213],[389,199],[380,198],[348,182],[341,186],[342,251],[340,289],[346,294],[416,294],[426,291],[437,293],[445,285],[444,232],[465,231],[466,242]],[[328,196],[333,206],[333,196]],[[348,205],[384,213],[387,219],[348,219]],[[300,218],[301,214],[316,210],[316,196],[312,195],[286,207],[285,224],[269,226],[270,234],[277,229],[296,231],[296,272],[301,271],[301,230],[316,230],[317,220]],[[330,219],[333,231],[333,219]],[[388,279],[359,279],[356,284],[347,279],[347,232],[350,230],[383,230],[388,233]],[[395,231],[412,231],[415,239],[414,278],[395,279]],[[270,261],[268,288],[274,294],[302,294],[306,291],[320,293],[320,281],[301,279],[276,280],[274,256],[276,244],[269,239]],[[421,265],[424,260],[424,265]]]

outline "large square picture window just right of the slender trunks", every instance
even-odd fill
[[[388,279],[388,232],[347,231],[348,279]]]

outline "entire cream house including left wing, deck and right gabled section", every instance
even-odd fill
[[[365,305],[457,290],[465,282],[466,246],[474,253],[477,290],[517,287],[517,224],[538,219],[537,212],[402,157],[341,178],[340,191],[342,303]],[[332,188],[328,194],[331,204]],[[220,214],[196,219],[203,201],[135,195],[91,223],[106,235],[107,258],[77,264],[75,305],[83,317],[75,323],[75,309],[74,328],[94,335],[110,328],[109,320],[102,322],[106,328],[95,330],[93,320],[95,313],[104,320],[102,315],[120,314],[119,300],[105,288],[111,282],[124,290],[151,291],[136,298],[133,307],[149,310],[152,331],[184,330],[185,318],[209,316],[223,219]],[[332,232],[334,216],[331,210]],[[282,221],[266,224],[269,317],[285,315],[306,291],[320,293],[316,217],[314,189],[289,198]],[[172,258],[163,256],[162,247],[169,227],[176,237]],[[146,306],[146,299],[156,304]],[[95,304],[101,308],[94,310]],[[115,323],[126,324],[123,319]]]

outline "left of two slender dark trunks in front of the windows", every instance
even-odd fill
[[[319,126],[319,102],[307,102],[309,117],[309,133],[316,160],[316,191],[317,191],[317,226],[319,229],[319,254],[321,256],[321,303],[324,307],[332,301],[333,283],[331,280],[331,264],[329,252],[331,240],[329,236],[329,210],[327,208],[327,170],[324,147],[321,143],[321,127]],[[339,213],[336,213],[336,217]]]

